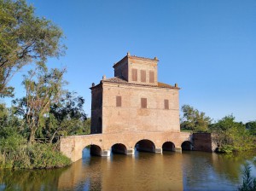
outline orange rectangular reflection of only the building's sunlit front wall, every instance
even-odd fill
[[[102,171],[102,190],[183,190],[181,154],[113,155]]]

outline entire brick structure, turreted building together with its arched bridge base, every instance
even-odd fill
[[[157,62],[127,54],[114,64],[113,78],[92,84],[91,135],[61,137],[61,152],[77,161],[86,146],[100,156],[192,149],[193,136],[180,132],[179,88],[158,82]],[[195,149],[210,151],[209,137],[195,136]]]

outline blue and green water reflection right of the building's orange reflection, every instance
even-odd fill
[[[255,152],[230,155],[183,152],[184,190],[236,190],[241,182],[242,165],[254,156]]]

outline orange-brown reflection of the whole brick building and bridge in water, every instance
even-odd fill
[[[180,153],[85,158],[61,173],[57,179],[58,189],[183,190],[182,161]]]

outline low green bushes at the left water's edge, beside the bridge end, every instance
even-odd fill
[[[54,144],[36,143],[0,153],[0,168],[43,169],[70,163],[71,160],[62,155]]]

